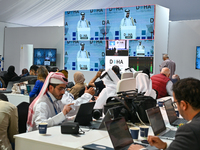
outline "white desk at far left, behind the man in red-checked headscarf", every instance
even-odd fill
[[[7,97],[10,103],[17,106],[21,102],[27,102],[29,103],[29,95],[23,95],[23,94],[12,94],[12,93],[4,93]]]

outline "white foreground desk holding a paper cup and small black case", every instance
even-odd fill
[[[83,129],[88,130],[88,129]],[[94,143],[108,136],[107,131],[90,130],[79,137],[61,134],[61,127],[47,128],[47,135],[40,135],[38,130],[15,135],[15,150],[66,150],[77,149],[83,145]]]

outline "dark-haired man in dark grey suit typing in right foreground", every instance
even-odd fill
[[[179,113],[188,123],[178,128],[175,139],[170,145],[157,136],[148,136],[151,146],[167,150],[199,150],[200,149],[200,80],[185,78],[173,85],[174,103]],[[137,147],[136,147],[137,146]],[[139,145],[131,145],[129,149],[145,149]]]

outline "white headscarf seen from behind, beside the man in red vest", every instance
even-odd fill
[[[145,96],[156,99],[156,92],[152,89],[152,81],[146,73],[139,73],[136,76],[136,89],[138,89],[138,93],[145,93]]]

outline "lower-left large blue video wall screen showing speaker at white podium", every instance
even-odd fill
[[[82,71],[105,69],[105,41],[65,42],[65,69]]]

